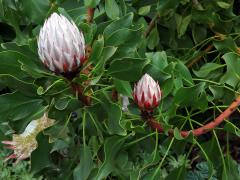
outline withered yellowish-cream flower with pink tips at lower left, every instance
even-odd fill
[[[31,121],[22,134],[14,134],[12,141],[2,141],[3,144],[8,145],[6,148],[14,151],[13,154],[5,158],[5,161],[17,159],[15,162],[17,164],[20,160],[30,157],[38,145],[37,134],[52,126],[54,122],[55,120],[49,119],[45,113],[40,119]]]

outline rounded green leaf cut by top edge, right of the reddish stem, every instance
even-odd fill
[[[105,0],[105,11],[110,19],[116,19],[120,15],[120,10],[115,0]]]

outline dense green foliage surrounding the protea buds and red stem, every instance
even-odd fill
[[[237,0],[0,0],[0,140],[48,112],[55,124],[30,157],[36,178],[240,179],[239,109],[199,137],[180,134],[240,94],[239,10]],[[72,81],[90,103],[40,61],[39,31],[53,12],[83,32],[88,60]],[[133,101],[145,73],[161,87],[163,133]]]

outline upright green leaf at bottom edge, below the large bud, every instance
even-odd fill
[[[88,146],[80,148],[80,163],[73,171],[74,180],[88,179],[93,168],[92,153]]]

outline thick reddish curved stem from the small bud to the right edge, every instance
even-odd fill
[[[209,132],[210,130],[214,129],[215,127],[217,127],[224,119],[228,118],[237,109],[237,107],[239,105],[240,105],[240,96],[237,97],[237,99],[235,101],[233,101],[232,104],[213,121],[205,124],[204,126],[202,126],[200,128],[194,129],[194,130],[181,131],[180,134],[183,137],[187,137],[190,132],[192,132],[192,134],[194,136],[200,136],[202,134],[205,134],[205,133]],[[153,117],[149,117],[147,119],[147,123],[152,129],[154,129],[154,130],[157,129],[157,131],[159,133],[164,132],[164,129],[162,128],[161,124],[159,122],[155,121]],[[170,129],[168,133],[170,135],[173,134],[173,129]]]

